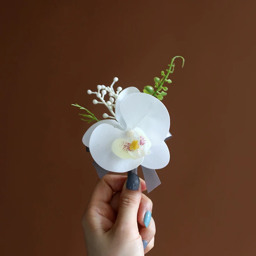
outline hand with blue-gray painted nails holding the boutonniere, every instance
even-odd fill
[[[144,190],[145,181],[131,172],[98,181],[82,218],[88,256],[142,256],[153,248],[153,204]]]

